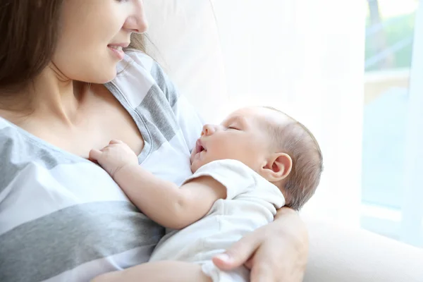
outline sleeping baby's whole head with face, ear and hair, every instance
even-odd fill
[[[269,107],[240,109],[220,125],[204,125],[191,154],[192,172],[219,159],[243,162],[278,186],[286,206],[297,210],[314,194],[323,170],[312,133]]]

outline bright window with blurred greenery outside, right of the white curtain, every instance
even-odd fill
[[[423,247],[423,7],[367,2],[361,226]]]

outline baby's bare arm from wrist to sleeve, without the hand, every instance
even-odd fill
[[[180,188],[141,166],[125,166],[114,179],[150,219],[167,228],[182,229],[201,219],[226,189],[211,177],[196,178]]]

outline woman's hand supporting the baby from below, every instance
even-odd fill
[[[279,209],[275,221],[257,229],[214,257],[219,269],[245,264],[252,282],[302,281],[308,255],[308,235],[297,212]]]

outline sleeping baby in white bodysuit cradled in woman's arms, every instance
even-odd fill
[[[148,263],[94,281],[249,281],[244,266],[221,271],[213,258],[273,221],[283,205],[300,209],[314,194],[323,166],[312,133],[268,107],[240,109],[221,125],[204,125],[190,157],[193,174],[180,187],[145,171],[118,140],[92,150],[90,158],[138,209],[173,230]]]

